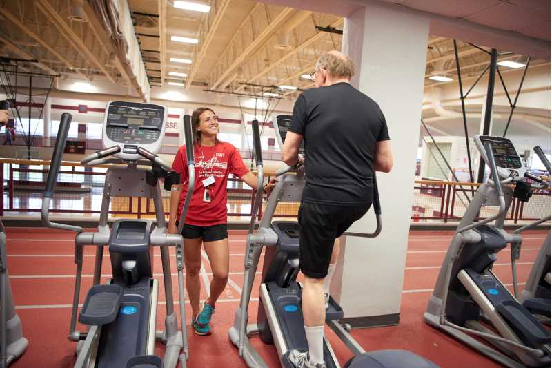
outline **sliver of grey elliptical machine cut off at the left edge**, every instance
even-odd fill
[[[23,337],[21,320],[15,313],[12,285],[8,275],[6,231],[0,220],[0,368],[6,368],[19,358],[29,345]]]

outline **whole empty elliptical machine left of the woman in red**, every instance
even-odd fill
[[[181,215],[178,234],[166,233],[166,222],[161,198],[159,178],[171,190],[179,184],[179,174],[172,172],[156,153],[161,148],[165,133],[167,110],[155,104],[112,101],[106,107],[103,121],[101,151],[85,157],[81,164],[95,166],[113,163],[108,168],[103,187],[101,215],[95,232],[84,232],[78,226],[56,224],[49,220],[49,205],[54,193],[61,156],[65,147],[71,115],[61,117],[59,132],[52,155],[50,172],[42,205],[42,222],[47,227],[77,232],[75,236],[75,294],[72,304],[69,340],[78,342],[75,367],[166,367],[174,368],[178,362],[186,367],[188,340],[186,328],[178,325],[172,297],[169,246],[175,246],[178,270],[179,312],[185,323],[184,260],[181,227],[192,191],[188,191]],[[184,117],[186,143],[192,142],[190,116]],[[189,150],[188,172],[190,188],[195,182],[192,144]],[[148,170],[144,165],[151,165]],[[152,220],[117,220],[109,229],[108,214],[111,197],[146,197],[155,206],[155,223]],[[112,279],[99,284],[103,247],[109,246]],[[88,331],[76,331],[77,311],[85,246],[95,246],[93,286],[79,313],[79,322],[89,326]],[[153,278],[153,246],[161,249],[166,301],[165,331],[155,331],[157,294],[159,285]],[[154,356],[155,340],[166,343],[164,360]],[[181,354],[183,351],[183,354]]]

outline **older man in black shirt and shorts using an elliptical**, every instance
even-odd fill
[[[327,307],[339,237],[370,208],[374,171],[388,173],[393,166],[382,110],[349,84],[353,73],[353,62],[341,52],[320,57],[315,68],[317,88],[299,95],[282,149],[282,161],[299,164],[299,145],[305,141],[306,184],[298,220],[309,350],[292,350],[288,355],[290,363],[299,368],[326,367],[324,304]]]

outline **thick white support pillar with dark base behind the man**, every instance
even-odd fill
[[[375,239],[342,238],[331,285],[351,325],[391,325],[400,316],[415,161],[420,135],[429,22],[372,4],[346,18],[342,51],[355,63],[353,86],[386,117],[395,166],[377,176],[383,231]],[[375,229],[369,211],[349,231]]]

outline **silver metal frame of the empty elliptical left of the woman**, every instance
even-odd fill
[[[165,117],[166,118],[166,117]],[[187,126],[186,139],[191,137],[191,126]],[[163,131],[164,133],[164,125]],[[162,136],[163,134],[161,134]],[[58,139],[60,139],[58,137]],[[104,150],[108,153],[115,153],[117,150]],[[152,157],[147,157],[148,155],[143,155],[143,157],[150,158],[152,161],[155,161],[157,164],[160,164],[164,168],[170,168],[170,165],[162,162],[159,157],[153,155]],[[59,159],[61,161],[61,153],[59,157],[52,157],[52,162],[54,159]],[[83,268],[83,253],[84,246],[95,246],[96,255],[95,255],[95,268],[94,268],[94,277],[92,285],[97,285],[100,282],[101,278],[101,265],[103,260],[103,247],[108,244],[110,238],[110,229],[108,226],[108,213],[110,198],[117,196],[135,196],[135,197],[146,197],[148,200],[153,199],[155,207],[155,218],[156,224],[155,228],[150,234],[150,244],[152,246],[161,247],[161,264],[163,266],[164,273],[164,290],[165,293],[165,302],[166,302],[166,318],[165,318],[165,330],[164,331],[155,331],[155,322],[156,322],[156,313],[157,313],[157,294],[158,294],[158,282],[154,279],[152,293],[151,293],[151,304],[150,304],[150,315],[148,320],[148,325],[150,330],[148,331],[148,347],[147,353],[153,354],[155,348],[155,339],[160,340],[166,344],[165,354],[164,354],[164,367],[166,368],[175,368],[178,362],[181,363],[181,367],[186,367],[186,360],[189,357],[188,352],[188,338],[186,334],[186,311],[184,307],[184,240],[182,239],[181,231],[178,234],[168,234],[165,215],[163,210],[163,202],[161,197],[161,184],[158,182],[155,187],[151,187],[146,183],[146,168],[138,167],[138,164],[141,161],[122,161],[120,158],[112,157],[103,157],[99,158],[99,154],[95,153],[83,159],[82,164],[86,166],[93,166],[95,164],[103,162],[112,162],[115,164],[125,164],[126,166],[111,166],[108,168],[106,173],[106,183],[103,187],[103,198],[101,203],[101,215],[97,231],[95,232],[83,232],[83,229],[79,226],[69,226],[66,224],[56,224],[50,222],[49,220],[49,204],[50,198],[45,197],[43,199],[42,205],[42,220],[43,224],[48,227],[54,227],[57,229],[65,229],[70,231],[77,232],[75,236],[75,264],[77,265],[77,270],[75,274],[75,291],[73,294],[73,303],[71,310],[71,322],[70,322],[70,331],[69,331],[69,340],[73,342],[79,342],[77,345],[77,362],[75,367],[93,367],[95,365],[95,357],[97,355],[98,340],[101,333],[101,326],[90,326],[86,332],[86,340],[82,342],[83,333],[76,330],[77,324],[77,313],[79,307],[79,296],[81,289],[81,278],[82,278],[82,268]],[[151,162],[149,162],[151,164]],[[189,185],[193,188],[195,184],[195,171],[192,164],[188,165],[189,171]],[[57,173],[52,173],[56,175]],[[119,179],[120,177],[120,179]],[[191,195],[193,191],[188,191],[186,194],[186,206],[184,211],[181,214],[181,224],[184,224],[184,219],[186,217],[186,211],[190,203]],[[178,286],[179,286],[179,312],[180,312],[180,321],[181,326],[184,325],[184,328],[179,326],[177,315],[174,309],[174,300],[172,296],[172,278],[170,272],[170,257],[169,257],[169,246],[175,246],[176,255],[177,255],[177,271],[178,271]],[[183,351],[183,354],[181,354]]]

